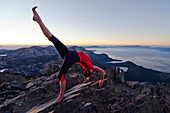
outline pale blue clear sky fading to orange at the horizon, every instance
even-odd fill
[[[170,45],[170,0],[0,0],[0,45]]]

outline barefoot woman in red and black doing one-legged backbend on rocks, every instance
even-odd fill
[[[44,25],[42,22],[40,16],[36,12],[37,7],[33,7],[33,20],[36,21],[44,35],[54,44],[56,49],[58,50],[60,56],[63,58],[63,63],[60,68],[58,78],[59,78],[59,83],[60,83],[60,94],[58,98],[56,99],[55,103],[59,103],[63,98],[64,98],[64,90],[66,87],[66,80],[64,78],[65,74],[67,73],[68,69],[75,63],[79,63],[84,70],[82,73],[88,77],[90,77],[91,73],[93,70],[99,71],[101,73],[101,79],[99,80],[99,86],[103,84],[103,79],[104,79],[104,70],[97,67],[93,66],[91,64],[91,60],[89,56],[87,56],[84,52],[81,51],[69,51],[67,47],[60,42],[56,37],[54,37],[51,32],[47,29],[47,27]]]

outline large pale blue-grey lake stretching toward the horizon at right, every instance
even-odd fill
[[[170,72],[170,52],[144,48],[86,48],[95,53],[106,53],[113,59],[132,61],[145,68]]]

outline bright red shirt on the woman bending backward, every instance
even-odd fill
[[[80,57],[80,62],[77,62],[77,63],[79,63],[86,70],[89,70],[89,69],[93,70],[94,66],[91,63],[90,57],[82,51],[76,51],[76,52],[78,53]]]

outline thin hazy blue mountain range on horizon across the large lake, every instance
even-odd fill
[[[152,46],[141,46],[141,45],[121,45],[121,46],[115,46],[115,45],[110,45],[110,46],[98,46],[98,45],[93,45],[93,46],[83,46],[85,48],[141,48],[141,49],[153,49],[153,50],[159,50],[159,51],[166,51],[170,52],[170,47],[152,47]]]

